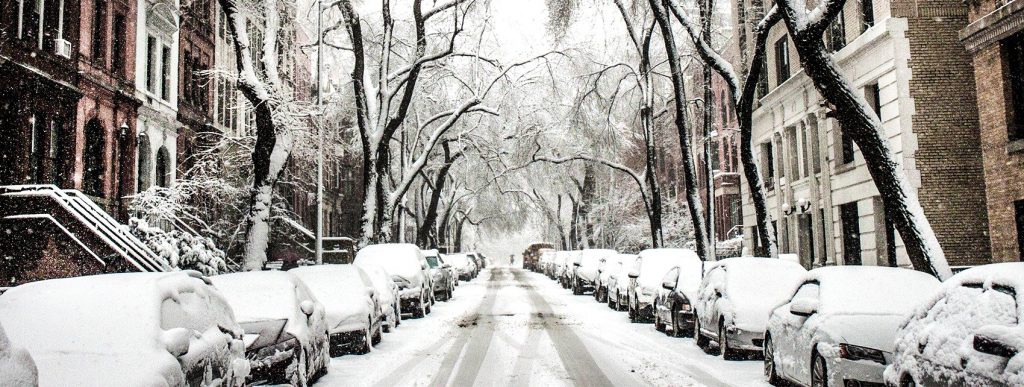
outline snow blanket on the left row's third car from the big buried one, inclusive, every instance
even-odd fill
[[[376,292],[370,277],[355,265],[317,265],[297,267],[288,272],[302,280],[324,304],[328,328],[332,332],[349,332],[368,327],[367,316],[373,313]]]

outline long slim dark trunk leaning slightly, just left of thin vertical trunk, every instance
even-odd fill
[[[679,63],[679,51],[676,48],[675,32],[666,13],[668,0],[649,0],[654,19],[662,31],[665,50],[668,54],[669,69],[672,73],[672,88],[675,93],[675,124],[679,133],[679,147],[683,159],[683,184],[686,186],[686,204],[689,207],[690,221],[693,223],[693,236],[696,240],[697,255],[708,260],[708,232],[703,219],[703,206],[700,203],[699,190],[696,186],[696,168],[693,165],[693,155],[690,149],[690,129],[686,112],[686,85],[683,81],[683,69]]]

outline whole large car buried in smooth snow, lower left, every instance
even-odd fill
[[[197,271],[30,283],[0,296],[0,325],[42,386],[241,386],[249,375],[242,328]]]

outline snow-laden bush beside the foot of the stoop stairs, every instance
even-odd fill
[[[209,238],[179,229],[167,231],[139,218],[131,218],[129,227],[135,236],[174,267],[198,270],[206,275],[227,270],[224,252]]]

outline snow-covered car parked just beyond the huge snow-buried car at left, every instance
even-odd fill
[[[331,361],[324,305],[286,271],[245,271],[210,277],[245,330],[250,384],[312,383]]]

